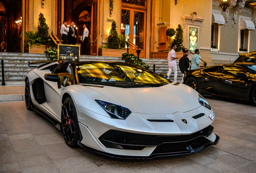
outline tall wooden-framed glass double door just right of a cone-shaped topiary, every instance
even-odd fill
[[[140,58],[145,58],[146,12],[122,8],[121,33],[141,49]],[[136,55],[136,49],[129,47],[129,53]]]

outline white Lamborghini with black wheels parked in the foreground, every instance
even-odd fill
[[[27,109],[52,121],[70,147],[153,158],[219,142],[215,114],[200,94],[134,64],[44,62],[25,82]]]

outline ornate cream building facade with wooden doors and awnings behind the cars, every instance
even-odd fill
[[[8,52],[24,51],[24,32],[37,31],[39,13],[43,13],[49,33],[60,35],[62,21],[74,22],[78,29],[76,42],[88,25],[88,50],[98,55],[107,44],[111,22],[116,21],[118,34],[124,34],[142,52],[141,58],[152,58],[153,52],[167,51],[173,38],[165,36],[167,28],[184,31],[184,46],[192,52],[200,49],[201,58],[214,63],[233,62],[239,52],[256,50],[256,0],[229,0],[223,12],[219,0],[0,0],[3,29],[0,41],[8,38]],[[18,22],[21,20],[22,22]],[[1,23],[0,23],[1,27]],[[15,46],[11,46],[15,45]],[[130,49],[135,53],[134,49]]]

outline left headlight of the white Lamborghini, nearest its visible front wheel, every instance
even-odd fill
[[[108,103],[105,101],[95,100],[111,118],[114,119],[126,119],[132,112],[125,107]]]

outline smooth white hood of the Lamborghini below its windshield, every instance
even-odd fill
[[[119,88],[105,86],[91,89],[108,97],[117,105],[134,113],[173,114],[187,112],[200,107],[198,93],[184,84],[174,82],[162,87]]]

